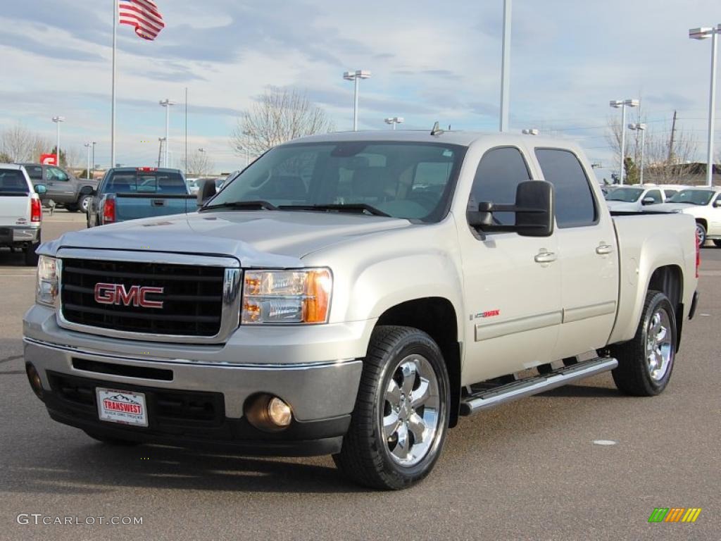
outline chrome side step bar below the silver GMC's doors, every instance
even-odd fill
[[[597,357],[571,366],[562,366],[542,376],[519,379],[517,382],[500,387],[474,392],[472,395],[461,398],[460,414],[471,415],[480,410],[518,400],[518,398],[537,395],[539,392],[562,387],[567,383],[613,370],[618,365],[619,361],[611,357]]]

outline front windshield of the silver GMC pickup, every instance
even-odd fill
[[[442,143],[341,141],[288,144],[253,162],[209,203],[366,205],[394,218],[438,221],[447,214],[464,147]]]

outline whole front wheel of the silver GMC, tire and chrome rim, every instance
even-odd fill
[[[373,330],[337,467],[356,483],[398,490],[433,470],[448,431],[450,385],[438,345],[412,327]]]

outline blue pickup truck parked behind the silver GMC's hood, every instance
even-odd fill
[[[89,195],[88,227],[184,214],[198,208],[182,172],[161,167],[113,167]]]

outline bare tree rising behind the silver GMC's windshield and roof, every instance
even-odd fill
[[[257,156],[291,139],[333,130],[325,112],[296,89],[267,89],[243,111],[230,144],[239,156]]]

